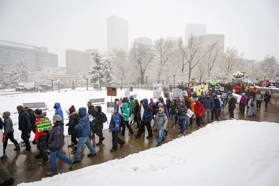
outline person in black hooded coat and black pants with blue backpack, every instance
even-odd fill
[[[105,139],[103,137],[103,128],[104,128],[104,113],[102,112],[102,107],[100,105],[97,105],[95,111],[96,111],[96,119],[94,119],[94,130],[95,134],[99,137],[99,142],[96,143],[96,145],[103,144],[102,141]]]

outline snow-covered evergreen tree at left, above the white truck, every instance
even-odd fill
[[[28,67],[23,59],[15,60],[12,67],[15,68],[10,72],[9,86],[17,86],[18,82],[28,82]]]

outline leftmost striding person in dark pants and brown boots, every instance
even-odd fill
[[[3,113],[3,119],[4,119],[4,135],[5,135],[5,142],[3,143],[3,156],[1,158],[6,158],[5,150],[8,144],[8,140],[10,139],[11,142],[15,144],[15,149],[14,151],[20,150],[20,146],[14,138],[14,129],[13,129],[13,124],[12,124],[12,119],[10,118],[11,113],[6,111]]]

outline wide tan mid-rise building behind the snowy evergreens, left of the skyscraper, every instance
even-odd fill
[[[100,52],[97,49],[87,49],[85,51],[79,50],[66,50],[66,73],[69,75],[78,75],[78,68],[82,72],[88,72],[93,70],[93,67],[96,65],[96,62],[91,56],[91,52],[94,51],[98,54]],[[101,57],[106,57],[105,55],[100,54]]]

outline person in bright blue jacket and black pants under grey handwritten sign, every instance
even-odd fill
[[[121,118],[119,112],[113,112],[111,111],[111,119],[110,119],[110,131],[112,135],[112,149],[110,149],[110,152],[117,150],[117,143],[120,144],[120,147],[122,148],[124,145],[124,141],[118,137],[118,130],[121,123]]]

